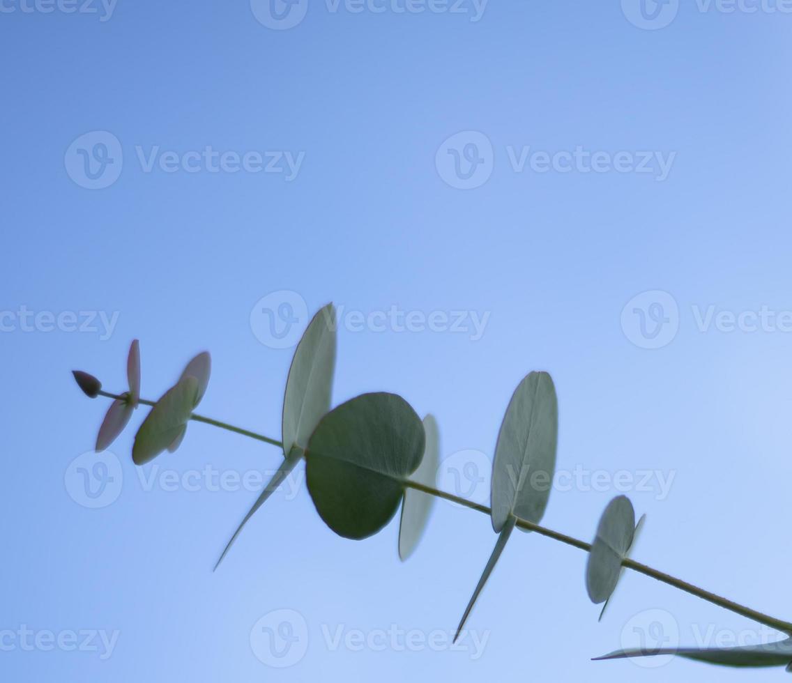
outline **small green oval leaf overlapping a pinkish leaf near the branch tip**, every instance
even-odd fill
[[[144,465],[173,445],[177,439],[181,441],[184,427],[197,400],[198,380],[192,375],[182,378],[176,386],[168,389],[154,404],[154,408],[151,408],[135,435],[135,445],[132,447],[132,461],[135,465]]]

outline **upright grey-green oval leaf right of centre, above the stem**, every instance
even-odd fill
[[[510,514],[539,524],[550,497],[557,444],[553,379],[532,372],[515,389],[495,446],[492,522],[497,533]]]

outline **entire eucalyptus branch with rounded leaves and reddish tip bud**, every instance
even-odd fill
[[[493,454],[491,507],[487,507],[435,488],[440,467],[440,435],[432,415],[421,419],[406,400],[388,392],[364,393],[332,407],[336,329],[335,308],[328,304],[314,315],[295,347],[286,380],[280,441],[194,412],[204,397],[211,374],[208,351],[190,360],[177,383],[156,402],[140,398],[138,340],[133,340],[129,349],[127,392],[102,391],[101,382],[93,375],[73,370],[74,379],[86,396],[113,400],[99,428],[97,452],[112,444],[139,404],[150,406],[151,410],[135,434],[132,446],[135,465],[145,465],[166,450],[170,453],[177,450],[190,420],[278,446],[284,453],[284,461],[242,518],[218,565],[246,522],[305,458],[310,498],[322,522],[339,536],[352,540],[370,537],[384,529],[398,508],[402,508],[398,533],[398,554],[402,561],[411,556],[428,523],[432,499],[426,495],[470,507],[490,518],[497,541],[459,622],[455,639],[463,632],[467,617],[518,526],[588,553],[585,586],[594,604],[604,603],[600,619],[623,569],[627,568],[787,636],[775,643],[739,647],[664,648],[645,647],[643,643],[642,647],[611,652],[598,659],[676,654],[726,666],[789,665],[787,670],[792,670],[792,623],[630,559],[643,517],[636,523],[633,504],[626,495],[617,495],[607,504],[591,543],[516,514],[517,510],[531,510],[531,517],[540,520],[550,496],[549,487],[524,486],[529,472],[544,472],[552,477],[555,470],[558,397],[549,373],[527,374],[512,394]],[[350,476],[353,473],[350,468],[366,474]],[[426,495],[418,495],[417,491]]]

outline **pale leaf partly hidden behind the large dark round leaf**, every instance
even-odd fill
[[[437,468],[440,465],[440,434],[437,421],[432,415],[426,415],[424,418],[424,433],[426,435],[424,457],[410,479],[434,488],[437,484]],[[421,541],[434,502],[435,497],[423,491],[407,488],[404,492],[402,520],[398,529],[398,556],[402,561],[413,554],[418,541]]]

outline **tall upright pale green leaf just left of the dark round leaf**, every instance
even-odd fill
[[[330,409],[336,367],[336,309],[326,305],[310,321],[291,359],[283,415],[284,455],[305,450],[308,438]]]

